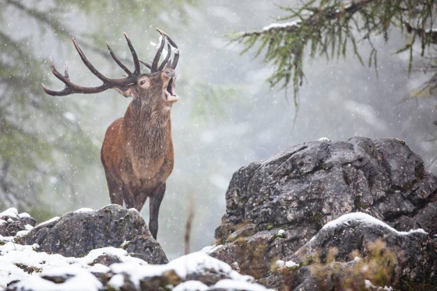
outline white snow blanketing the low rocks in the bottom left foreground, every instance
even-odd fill
[[[13,239],[13,238],[12,238]],[[248,291],[267,291],[261,285],[253,283],[253,277],[241,275],[232,270],[231,266],[205,253],[195,252],[164,265],[150,265],[142,259],[131,257],[125,250],[114,247],[103,247],[91,250],[83,258],[64,257],[59,254],[36,252],[39,245],[20,245],[5,242],[0,245],[0,290],[14,280],[20,282],[17,290],[33,291],[97,291],[103,288],[101,282],[91,273],[109,273],[114,275],[108,282],[112,288],[119,289],[124,284],[124,275],[139,288],[140,279],[144,277],[163,275],[173,270],[182,279],[189,274],[219,273],[229,279],[218,281],[214,288],[241,287]],[[90,264],[102,254],[111,254],[121,259],[109,267],[102,264]],[[29,274],[32,273],[32,274]],[[64,283],[55,284],[41,276],[61,276]],[[232,288],[231,288],[232,287]],[[207,290],[208,287],[200,281],[188,280],[179,284],[175,290]]]

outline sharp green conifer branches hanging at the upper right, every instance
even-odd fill
[[[420,56],[430,57],[433,65],[427,70],[436,73],[435,45],[437,30],[433,30],[437,9],[435,0],[305,0],[297,8],[279,7],[287,16],[262,30],[232,35],[233,41],[242,42],[243,53],[255,49],[255,55],[264,54],[264,61],[274,65],[269,78],[271,86],[286,88],[293,85],[294,102],[304,79],[303,59],[324,55],[327,59],[345,56],[348,48],[363,65],[377,66],[377,49],[372,38],[382,35],[387,41],[391,28],[406,36],[405,45],[396,53],[408,51],[408,69],[412,69],[413,52],[419,45]],[[367,60],[359,53],[359,43],[367,41],[371,51]],[[437,74],[424,84],[421,91],[433,92]]]

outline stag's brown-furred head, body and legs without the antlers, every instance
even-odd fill
[[[145,75],[127,90],[117,90],[134,100],[123,117],[106,130],[101,147],[112,203],[125,202],[126,208],[140,211],[150,197],[149,227],[154,238],[158,229],[158,212],[165,193],[166,180],[173,170],[170,109],[165,90],[174,77],[167,68]],[[142,80],[146,80],[140,85]]]

